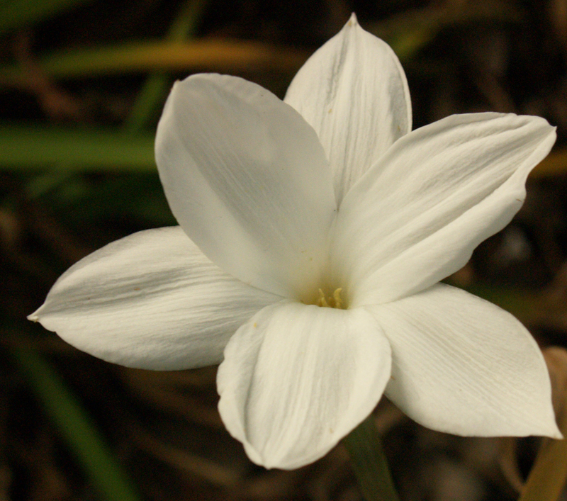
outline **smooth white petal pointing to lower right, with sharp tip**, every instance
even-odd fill
[[[510,313],[438,284],[368,306],[392,346],[388,398],[440,432],[561,437],[541,351]]]

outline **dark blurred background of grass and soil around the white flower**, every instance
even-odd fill
[[[153,159],[174,79],[235,74],[283,97],[352,11],[398,54],[414,128],[476,111],[558,127],[520,213],[449,281],[529,328],[563,419],[566,0],[1,0],[0,501],[361,500],[341,445],[297,471],[250,463],[220,422],[215,367],[113,366],[26,320],[78,259],[176,224]],[[432,432],[386,399],[375,414],[403,501],[516,500],[541,446]],[[566,500],[552,470],[530,482]]]

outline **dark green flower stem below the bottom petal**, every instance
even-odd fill
[[[342,439],[366,501],[399,501],[388,461],[384,456],[374,416],[369,415]]]

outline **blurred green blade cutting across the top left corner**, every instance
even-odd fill
[[[0,2],[0,33],[38,23],[92,0],[9,0]]]

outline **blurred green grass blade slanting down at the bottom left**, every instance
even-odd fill
[[[108,501],[140,501],[133,484],[77,398],[35,351],[12,349],[13,359],[79,459],[92,485]]]

